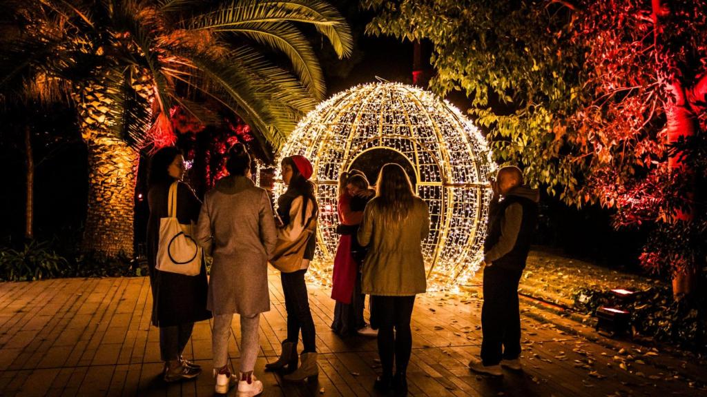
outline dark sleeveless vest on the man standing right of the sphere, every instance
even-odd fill
[[[484,252],[488,252],[501,238],[501,220],[506,213],[506,208],[513,203],[519,203],[523,208],[523,217],[520,222],[520,231],[515,240],[513,249],[508,254],[493,261],[493,266],[522,270],[530,251],[530,242],[537,225],[538,206],[530,198],[520,196],[506,196],[491,210],[489,216],[489,232],[484,242]]]

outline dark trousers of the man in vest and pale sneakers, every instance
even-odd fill
[[[518,283],[522,269],[484,268],[484,305],[481,307],[481,361],[498,365],[520,356]]]

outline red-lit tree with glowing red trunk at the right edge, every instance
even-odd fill
[[[695,154],[707,127],[707,3],[582,1],[574,16],[592,93],[563,137],[591,155],[580,191],[616,206],[617,225],[658,220],[643,265],[670,269],[674,291],[689,291],[704,260],[694,183],[706,171]]]

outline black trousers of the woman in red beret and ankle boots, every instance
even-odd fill
[[[302,330],[303,352],[316,352],[317,333],[309,307],[305,273],[299,270],[292,273],[280,273],[282,290],[285,295],[285,310],[287,312],[287,340],[297,344]]]

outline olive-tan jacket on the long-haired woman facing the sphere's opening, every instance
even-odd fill
[[[414,198],[407,215],[394,227],[384,227],[373,198],[363,212],[358,242],[368,246],[363,260],[361,292],[370,295],[409,296],[425,292],[422,240],[430,231],[430,213],[421,198]]]

